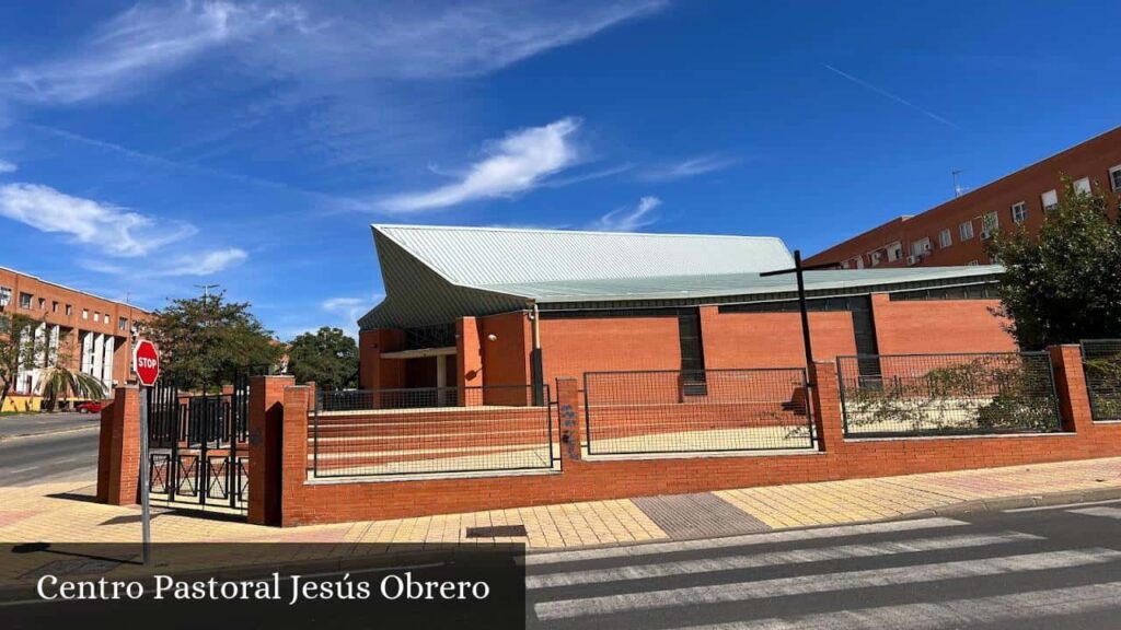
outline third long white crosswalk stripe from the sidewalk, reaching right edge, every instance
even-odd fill
[[[822,575],[799,575],[756,582],[691,586],[641,593],[556,600],[535,604],[538,619],[571,619],[637,610],[743,602],[785,595],[827,593],[852,589],[918,584],[938,580],[981,577],[1104,564],[1121,559],[1121,552],[1105,548],[1045,552],[998,558],[956,560]]]

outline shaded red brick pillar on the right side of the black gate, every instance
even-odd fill
[[[280,525],[281,425],[284,390],[294,377],[252,377],[249,381],[249,522]]]

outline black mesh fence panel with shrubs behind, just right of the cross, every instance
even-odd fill
[[[1046,352],[839,356],[847,437],[1062,430]]]

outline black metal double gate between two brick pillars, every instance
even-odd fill
[[[157,382],[148,396],[148,492],[182,504],[244,511],[249,485],[249,374],[229,393],[184,396]]]

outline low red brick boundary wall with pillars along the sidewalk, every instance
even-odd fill
[[[589,460],[578,448],[576,381],[556,383],[563,472],[408,481],[308,482],[308,390],[284,392],[285,526],[400,518],[568,501],[1004,466],[1121,454],[1121,424],[1093,424],[1077,346],[1051,351],[1072,433],[1003,437],[844,439],[836,368],[818,362],[821,450],[776,456]],[[252,491],[251,491],[252,492]]]

